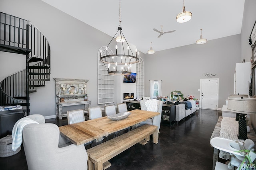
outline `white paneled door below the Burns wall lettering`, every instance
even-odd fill
[[[218,78],[201,79],[201,108],[202,109],[218,109]]]

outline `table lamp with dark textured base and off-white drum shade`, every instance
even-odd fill
[[[238,139],[247,139],[246,114],[256,114],[256,98],[228,98],[228,109],[239,114]]]

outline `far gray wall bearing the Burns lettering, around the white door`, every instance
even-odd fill
[[[200,78],[208,72],[219,78],[219,108],[225,105],[229,94],[234,93],[235,64],[240,59],[240,34],[208,41],[203,45],[186,45],[153,55],[146,55],[145,94],[149,96],[149,80],[162,81],[162,95],[180,90],[200,99]]]

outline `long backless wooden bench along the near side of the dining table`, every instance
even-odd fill
[[[155,144],[158,143],[157,129],[158,127],[154,125],[143,125],[86,150],[88,154],[88,169],[93,170],[95,168],[95,170],[102,170],[102,164],[104,162],[132,147],[141,140],[148,138],[149,135],[153,134],[153,142]]]

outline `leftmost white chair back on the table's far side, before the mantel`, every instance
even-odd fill
[[[67,111],[68,125],[85,121],[84,109]]]

